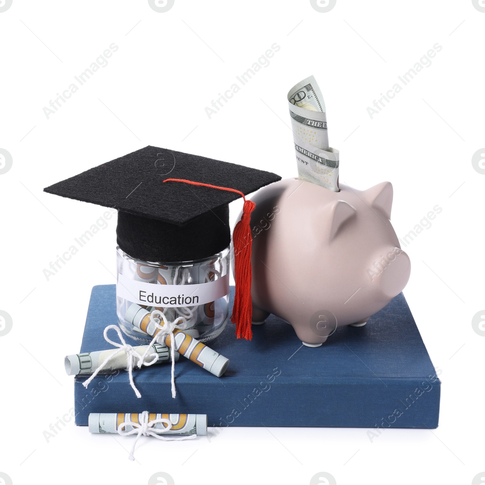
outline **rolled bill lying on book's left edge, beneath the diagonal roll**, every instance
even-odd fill
[[[143,356],[146,352],[148,345],[139,345],[133,347],[133,350]],[[72,356],[65,356],[64,367],[67,375],[84,375],[92,374],[96,369],[105,361],[109,356],[113,355],[119,349],[99,350],[96,352],[84,352],[82,354],[74,354]],[[145,358],[145,362],[148,363],[153,360],[153,355],[158,355],[158,360],[155,364],[161,364],[162,362],[170,362],[170,349],[164,345],[160,345],[155,342],[151,345],[150,353]],[[178,360],[178,352],[174,354],[175,361]],[[118,352],[116,356],[108,360],[104,366],[102,372],[109,372],[115,369],[126,369],[128,366],[128,357],[125,351]]]

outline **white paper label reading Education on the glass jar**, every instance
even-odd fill
[[[118,275],[116,296],[131,303],[161,307],[192,307],[229,294],[229,275],[196,285],[157,285]]]

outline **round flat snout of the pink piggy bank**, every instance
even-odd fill
[[[371,268],[367,272],[371,284],[377,283],[384,296],[394,298],[403,291],[409,280],[411,261],[402,249],[394,247],[380,252]]]

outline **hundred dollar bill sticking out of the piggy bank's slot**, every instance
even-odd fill
[[[298,178],[339,192],[339,150],[328,144],[322,92],[313,76],[288,92]]]

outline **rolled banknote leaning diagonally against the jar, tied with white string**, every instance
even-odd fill
[[[132,303],[125,314],[125,320],[133,326],[143,330],[150,337],[154,337],[160,329],[150,319],[151,313],[136,303]],[[163,322],[161,323],[163,326]],[[174,330],[174,347],[182,356],[192,360],[195,364],[206,369],[211,374],[221,377],[226,372],[229,359],[213,351],[207,345],[192,338],[181,330]],[[166,335],[163,343],[170,347],[170,335]]]

